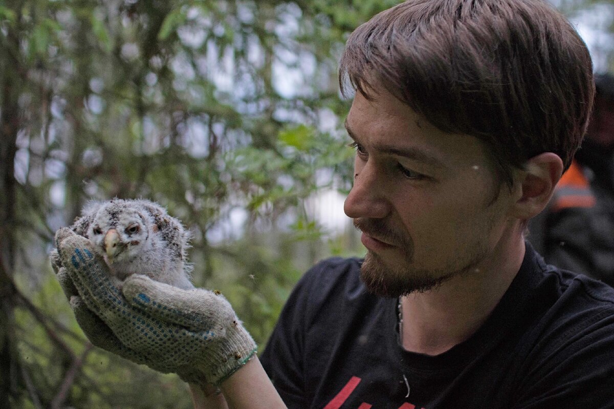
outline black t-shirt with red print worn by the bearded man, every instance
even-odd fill
[[[398,342],[397,300],[373,296],[359,259],[301,278],[261,361],[290,408],[614,408],[614,289],[546,266],[527,245],[483,326],[437,356]]]

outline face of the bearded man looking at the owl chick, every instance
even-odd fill
[[[385,91],[374,96],[357,93],[346,121],[357,176],[344,211],[363,232],[363,281],[398,297],[479,272],[512,226],[511,194],[483,145],[441,132]]]

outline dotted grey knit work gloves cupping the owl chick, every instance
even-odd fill
[[[254,355],[254,340],[219,292],[144,275],[120,290],[87,239],[63,228],[55,242],[53,269],[93,345],[201,385],[220,384]]]

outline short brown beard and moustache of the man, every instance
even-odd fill
[[[425,292],[441,286],[453,277],[475,269],[488,253],[486,243],[473,243],[443,267],[424,269],[414,262],[414,243],[408,234],[386,226],[384,221],[367,218],[354,219],[354,226],[362,232],[398,248],[401,256],[392,261],[384,260],[379,254],[367,250],[360,266],[360,279],[367,290],[376,296],[398,298],[413,292]],[[433,255],[436,258],[437,254]]]

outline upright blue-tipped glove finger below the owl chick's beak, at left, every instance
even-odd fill
[[[125,305],[121,292],[111,280],[104,259],[95,254],[90,242],[68,231],[58,244],[58,253],[72,283],[88,307],[101,315],[110,308]],[[59,235],[56,234],[56,237]]]

